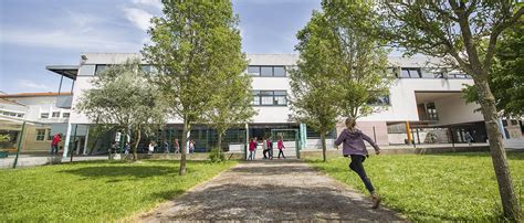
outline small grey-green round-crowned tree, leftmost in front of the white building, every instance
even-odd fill
[[[158,129],[165,121],[163,103],[148,74],[139,60],[129,60],[107,67],[91,84],[93,88],[83,93],[76,109],[97,125],[132,136],[133,160],[137,160],[143,132]]]

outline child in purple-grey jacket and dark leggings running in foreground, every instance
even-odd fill
[[[371,138],[363,134],[360,130],[355,128],[356,120],[354,118],[347,118],[346,121],[346,129],[344,129],[338,138],[335,141],[335,146],[339,146],[340,144],[343,145],[343,155],[344,157],[350,157],[352,162],[349,163],[349,169],[355,171],[358,177],[360,177],[360,180],[364,182],[364,185],[366,185],[366,189],[369,191],[371,194],[371,200],[373,200],[373,209],[377,209],[378,205],[380,204],[380,197],[375,192],[375,189],[373,188],[371,181],[366,174],[366,171],[364,170],[363,162],[366,160],[366,157],[368,157],[368,152],[366,149],[366,145],[364,144],[364,140],[369,142],[373,148],[375,148],[375,153],[379,155],[380,153],[380,148],[375,144]]]

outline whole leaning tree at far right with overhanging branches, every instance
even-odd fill
[[[504,216],[520,217],[521,206],[510,174],[495,98],[489,85],[495,46],[501,33],[522,23],[524,9],[513,1],[395,1],[382,2],[388,21],[378,29],[407,54],[422,53],[447,59],[473,77],[484,115],[490,150],[499,183]],[[482,42],[486,40],[486,44]]]

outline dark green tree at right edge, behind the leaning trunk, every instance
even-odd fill
[[[497,42],[492,72],[489,75],[490,88],[495,97],[496,109],[506,117],[524,115],[524,25],[515,25],[502,33]],[[463,89],[469,103],[479,100],[474,85]]]

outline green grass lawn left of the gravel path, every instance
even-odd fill
[[[113,221],[148,211],[237,162],[77,162],[0,170],[0,220]]]

